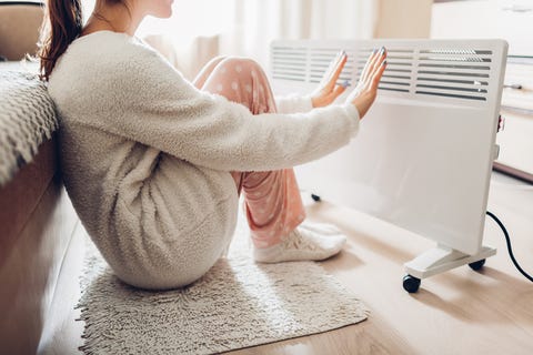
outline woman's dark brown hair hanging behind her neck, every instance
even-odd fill
[[[43,80],[48,80],[58,58],[81,33],[83,28],[81,0],[49,0],[46,18],[38,52]]]

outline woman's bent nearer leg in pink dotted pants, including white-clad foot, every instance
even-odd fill
[[[253,114],[276,111],[266,75],[252,60],[217,58],[200,72],[195,84],[202,90],[245,105]],[[232,172],[232,176],[239,193],[242,191],[244,194],[257,260],[321,260],[340,251],[344,237],[342,241],[340,236],[321,240],[321,234],[338,233],[322,233],[325,230],[321,231],[320,227],[296,229],[305,219],[305,210],[292,169]]]

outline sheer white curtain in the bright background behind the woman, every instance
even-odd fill
[[[94,0],[86,0],[86,13]],[[177,0],[171,19],[147,19],[141,38],[187,78],[213,55],[247,55],[268,67],[274,39],[370,39],[376,0]],[[172,52],[172,53],[171,53]]]

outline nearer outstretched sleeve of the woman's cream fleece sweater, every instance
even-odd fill
[[[94,123],[197,165],[223,171],[294,166],[345,145],[359,129],[351,105],[299,114],[252,115],[241,104],[197,90],[154,51],[131,44],[110,65]],[[103,89],[103,90],[102,90]],[[101,97],[101,94],[100,94]]]

